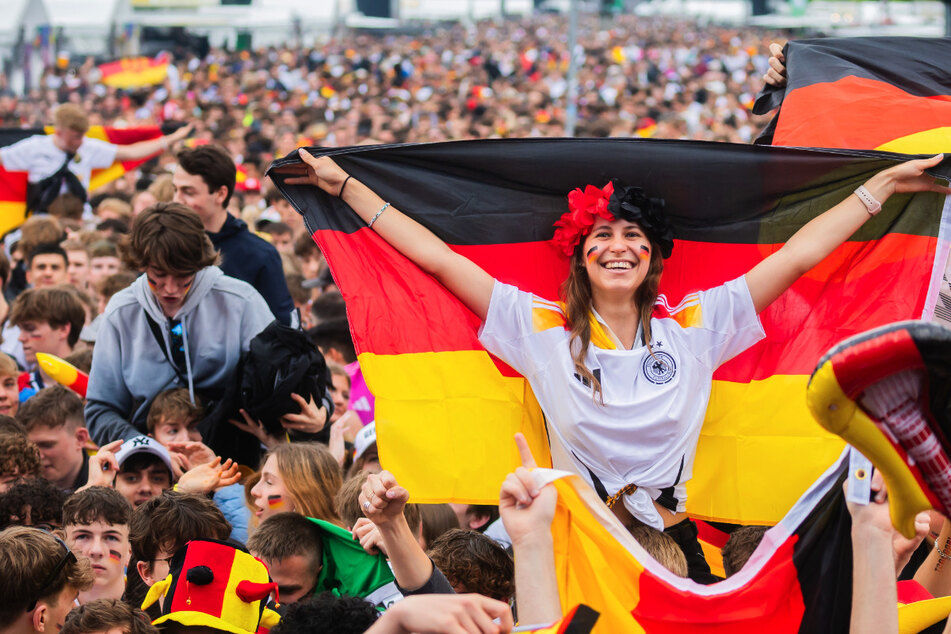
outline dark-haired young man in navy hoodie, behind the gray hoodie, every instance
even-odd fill
[[[236,173],[231,156],[217,145],[184,150],[172,176],[174,200],[201,218],[212,244],[221,252],[225,275],[253,286],[282,324],[296,327],[299,318],[277,249],[228,213]]]

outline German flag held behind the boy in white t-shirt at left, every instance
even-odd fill
[[[36,134],[52,133],[52,126],[35,129],[0,128],[0,147],[13,145],[17,141]],[[162,131],[158,126],[138,128],[92,126],[86,136],[115,143],[116,145],[130,145],[139,141],[158,138],[162,136]],[[107,185],[147,160],[146,158],[137,161],[117,162],[106,169],[93,170],[89,181],[89,191]],[[26,219],[26,186],[26,172],[8,172],[0,166],[0,235],[20,226]]]

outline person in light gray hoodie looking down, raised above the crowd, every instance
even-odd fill
[[[140,214],[121,253],[144,273],[102,315],[86,393],[86,425],[100,445],[147,433],[152,399],[164,390],[220,396],[251,339],[274,320],[250,284],[215,266],[201,219],[184,205]]]

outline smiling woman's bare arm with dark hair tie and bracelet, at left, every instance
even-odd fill
[[[433,232],[392,205],[384,209],[382,198],[357,179],[349,177],[330,157],[314,158],[305,150],[299,152],[301,160],[308,166],[307,175],[290,177],[287,183],[314,185],[333,196],[340,195],[343,187],[342,200],[364,222],[369,224],[372,221],[372,228],[380,237],[439,280],[479,319],[485,321],[495,283],[491,275],[450,249]],[[344,181],[347,181],[346,186]]]

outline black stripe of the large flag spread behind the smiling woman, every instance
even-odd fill
[[[825,200],[820,192],[843,183],[858,187],[901,158],[873,151],[624,138],[485,139],[308,151],[332,156],[383,200],[460,246],[550,240],[554,222],[568,211],[568,192],[587,184],[603,186],[609,176],[663,198],[677,240],[786,242],[840,201]],[[267,173],[299,212],[306,211],[308,230],[366,228],[335,196],[310,185],[288,185],[287,177],[301,167],[294,153],[275,161]],[[951,176],[951,160],[931,172]],[[914,216],[876,216],[850,239],[881,237],[886,229],[936,235],[937,229],[917,226]]]

